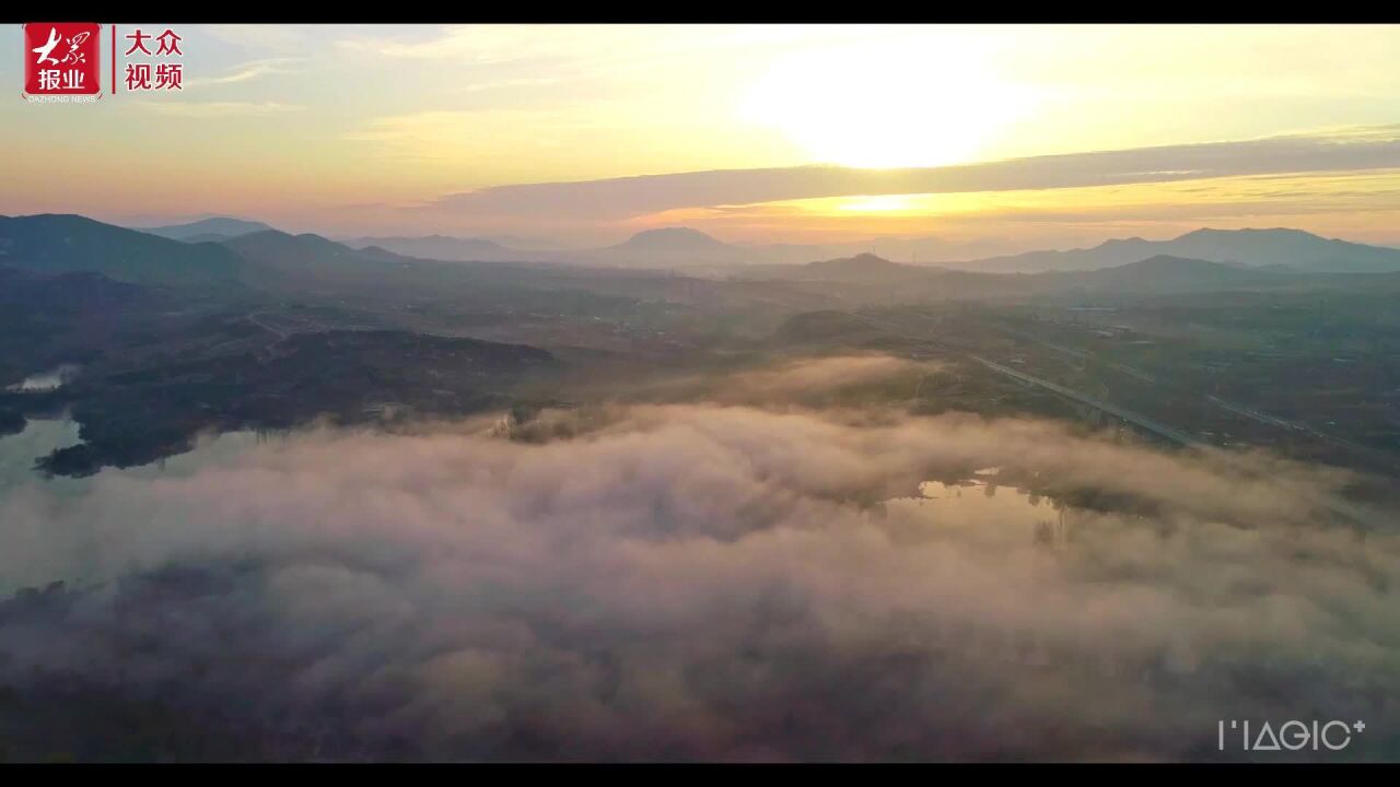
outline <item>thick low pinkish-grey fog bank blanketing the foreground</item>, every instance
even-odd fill
[[[10,756],[1204,759],[1295,717],[1400,753],[1400,543],[1319,510],[1336,471],[966,415],[545,417],[571,437],[223,437],[0,497],[6,592],[69,583],[0,604]]]

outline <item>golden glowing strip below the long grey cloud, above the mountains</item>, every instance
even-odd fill
[[[1151,218],[1144,218],[1151,217]],[[867,195],[668,210],[636,227],[689,225],[727,238],[848,241],[878,235],[977,238],[1173,237],[1203,225],[1302,227],[1386,242],[1400,223],[1400,169],[1264,175],[1056,190]],[[1078,241],[1075,241],[1078,242]]]

